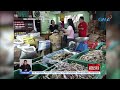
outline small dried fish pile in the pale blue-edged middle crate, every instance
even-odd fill
[[[64,52],[64,53],[61,53],[61,54],[56,54],[55,56],[52,57],[52,59],[61,61],[61,60],[70,58],[72,55],[73,55],[72,53]]]

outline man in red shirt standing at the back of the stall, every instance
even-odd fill
[[[80,17],[80,24],[78,25],[79,37],[87,37],[88,25],[84,21],[84,17]]]

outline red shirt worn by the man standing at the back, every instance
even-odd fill
[[[83,28],[83,30],[79,29],[79,37],[87,37],[87,23],[82,22],[78,25],[78,28]]]

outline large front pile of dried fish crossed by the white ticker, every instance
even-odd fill
[[[77,63],[57,63],[55,68],[51,71],[83,71],[87,70],[87,67]],[[93,74],[49,74],[39,77],[38,79],[92,79],[95,75]]]

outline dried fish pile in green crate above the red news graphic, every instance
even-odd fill
[[[101,63],[105,61],[105,56],[103,55],[102,50],[93,50],[93,51],[89,51],[85,55],[82,55],[79,59]]]

